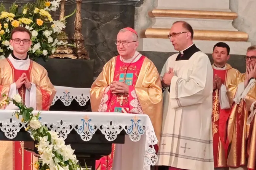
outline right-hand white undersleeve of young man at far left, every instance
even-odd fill
[[[26,89],[25,99],[26,99],[25,105],[27,107],[33,107],[34,110],[36,110],[36,108],[37,108],[37,89],[36,89],[34,83],[31,83],[30,91],[28,89]]]

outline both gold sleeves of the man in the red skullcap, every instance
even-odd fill
[[[104,65],[102,72],[91,86],[90,100],[93,112],[106,110],[102,109],[107,107],[102,103],[106,103],[109,97],[103,94],[108,91],[114,79],[116,58],[113,57]],[[129,87],[129,101],[130,99],[131,103],[133,101],[139,103],[139,106],[130,105],[131,112],[149,115],[159,142],[162,128],[162,86],[157,68],[148,58],[145,58],[142,63],[135,87]]]

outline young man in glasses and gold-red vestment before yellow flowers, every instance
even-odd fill
[[[27,107],[49,110],[56,91],[45,68],[30,60],[27,55],[32,44],[30,38],[30,31],[24,27],[14,28],[11,32],[13,53],[0,60],[0,102],[6,99],[3,94],[10,98],[19,94]],[[11,103],[2,105],[0,109],[18,110],[18,107]],[[36,158],[24,150],[23,145],[19,141],[0,141],[0,170],[33,169]]]

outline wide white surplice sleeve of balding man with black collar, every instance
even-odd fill
[[[200,104],[213,93],[213,68],[206,55],[199,55],[187,79],[173,76],[170,85],[172,108]]]

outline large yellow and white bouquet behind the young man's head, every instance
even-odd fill
[[[58,34],[66,27],[64,20],[53,20],[50,12],[59,8],[61,0],[37,0],[22,6],[22,13],[18,13],[16,3],[10,6],[7,12],[3,3],[0,4],[0,58],[7,57],[13,50],[10,45],[10,36],[13,28],[26,27],[32,34],[32,46],[29,57],[48,58],[56,51],[58,45],[74,46],[57,38]],[[75,13],[75,11],[74,11]],[[67,17],[72,16],[74,13]]]

